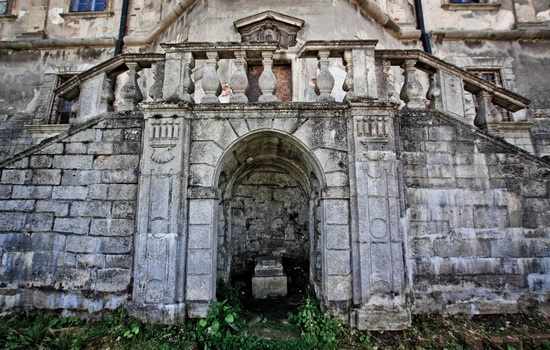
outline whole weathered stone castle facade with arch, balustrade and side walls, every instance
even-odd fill
[[[548,302],[548,4],[2,11],[3,309],[201,317],[263,256],[359,329]]]

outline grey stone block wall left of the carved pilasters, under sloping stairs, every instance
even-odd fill
[[[126,301],[141,130],[140,114],[106,115],[0,164],[2,307]]]

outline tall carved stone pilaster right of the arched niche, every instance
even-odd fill
[[[352,104],[350,193],[353,301],[359,329],[404,329],[406,308],[399,167],[393,110]]]

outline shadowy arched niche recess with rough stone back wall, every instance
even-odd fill
[[[280,258],[289,294],[313,287],[319,296],[321,172],[299,141],[272,131],[236,142],[222,157],[217,279],[250,288],[256,259]]]

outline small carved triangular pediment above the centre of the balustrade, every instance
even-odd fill
[[[233,22],[243,43],[278,43],[287,49],[296,45],[304,21],[274,11],[265,11]]]

